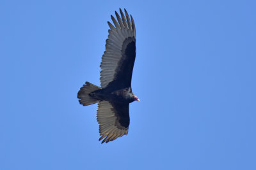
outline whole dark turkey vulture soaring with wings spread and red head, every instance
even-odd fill
[[[115,11],[117,21],[111,15],[115,26],[108,22],[109,35],[100,64],[101,87],[86,81],[77,94],[83,106],[98,103],[99,141],[103,139],[102,143],[128,134],[129,103],[140,101],[131,88],[136,55],[135,25],[132,16],[130,20],[124,11],[125,15],[120,9],[121,17]]]

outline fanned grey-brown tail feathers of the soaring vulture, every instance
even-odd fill
[[[101,89],[101,87],[98,87],[97,85],[93,85],[92,83],[89,83],[88,81],[86,81],[83,87],[81,87],[81,89],[77,94],[79,103],[83,104],[83,106],[88,106],[90,104],[98,103],[99,100],[94,99],[89,94],[99,89]]]

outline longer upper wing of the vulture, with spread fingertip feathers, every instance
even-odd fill
[[[115,27],[108,22],[110,27],[108,39],[106,40],[106,51],[102,56],[100,64],[100,85],[102,88],[113,85],[116,89],[131,86],[132,69],[134,65],[135,46],[135,25],[126,10],[125,15],[120,9],[121,17],[115,11],[116,18],[111,15]]]

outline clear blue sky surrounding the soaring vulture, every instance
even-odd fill
[[[1,1],[0,169],[256,169],[255,1]],[[110,15],[137,55],[129,134],[101,145],[97,104]]]

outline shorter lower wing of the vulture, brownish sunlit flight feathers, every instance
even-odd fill
[[[102,143],[108,143],[118,137],[124,136],[124,134],[128,134],[130,124],[129,104],[100,101],[98,103],[97,120],[101,135],[99,141],[106,137]]]

